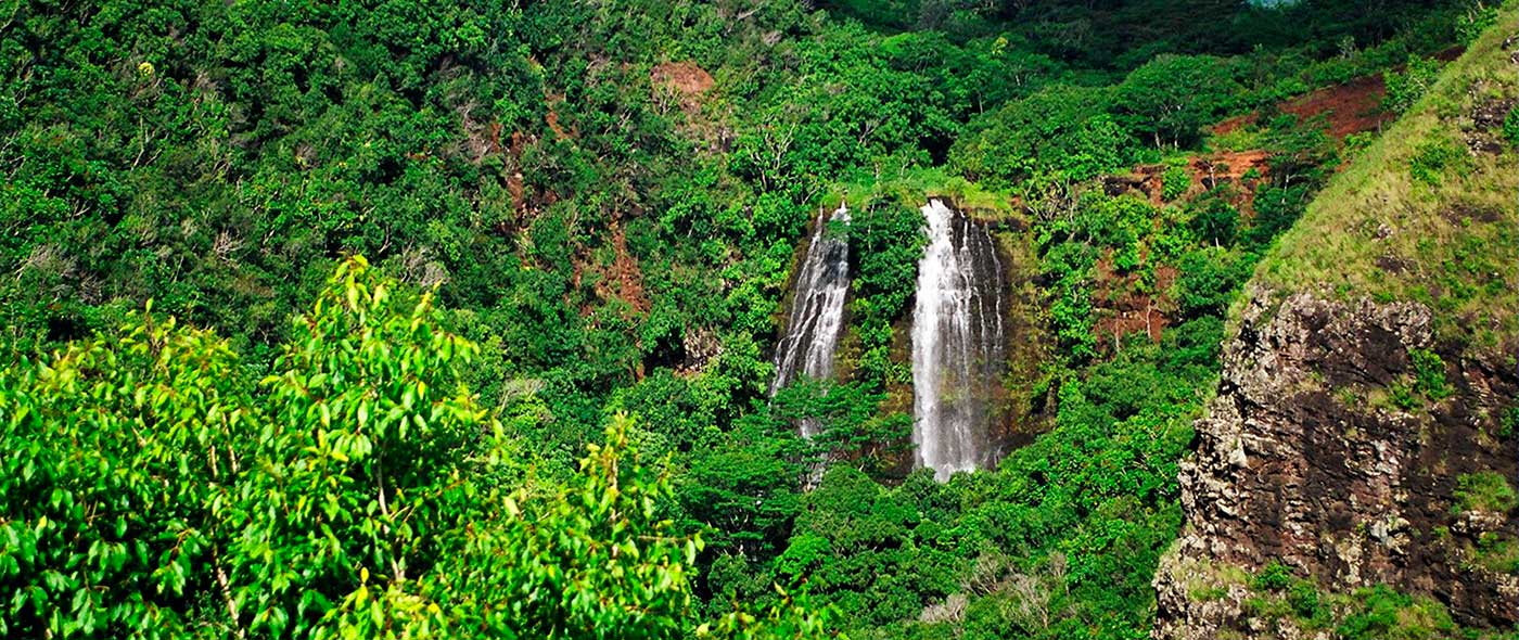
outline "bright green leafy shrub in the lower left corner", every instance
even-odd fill
[[[205,331],[138,318],[0,372],[0,623],[173,635],[202,588],[248,388]],[[144,626],[152,619],[150,626]]]

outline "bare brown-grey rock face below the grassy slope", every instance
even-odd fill
[[[1294,635],[1244,602],[1273,561],[1326,591],[1388,584],[1464,625],[1519,622],[1519,567],[1480,558],[1519,540],[1519,509],[1458,488],[1519,477],[1513,362],[1435,344],[1420,304],[1273,299],[1250,292],[1182,465],[1188,524],[1154,579],[1154,637]]]

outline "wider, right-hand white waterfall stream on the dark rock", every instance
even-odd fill
[[[913,444],[948,480],[990,462],[1001,386],[1003,265],[990,233],[939,199],[922,207],[928,248],[913,309]]]

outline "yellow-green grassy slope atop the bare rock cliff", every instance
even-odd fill
[[[1466,141],[1473,131],[1501,138],[1473,112],[1519,96],[1519,62],[1504,46],[1516,33],[1519,6],[1510,2],[1425,99],[1318,195],[1255,283],[1281,295],[1420,301],[1435,310],[1442,336],[1480,350],[1519,339],[1519,150],[1472,152]]]

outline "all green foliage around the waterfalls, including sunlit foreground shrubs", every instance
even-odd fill
[[[1413,0],[85,5],[0,9],[6,635],[1142,635],[1221,309],[1338,166],[1273,105],[1464,24]],[[1249,109],[1233,143],[1273,157],[1250,207],[1104,193]],[[794,246],[840,184],[864,193],[845,380],[770,398]],[[1028,207],[1059,341],[1028,391],[1051,430],[948,485],[901,465],[925,193],[1007,230]],[[1473,228],[1419,255],[1445,304],[1508,281],[1473,274],[1514,239]],[[1159,344],[1100,341],[1136,301]]]

